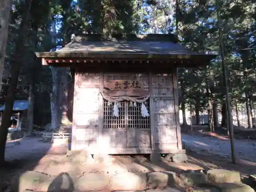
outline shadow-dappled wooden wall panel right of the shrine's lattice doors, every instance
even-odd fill
[[[173,74],[153,74],[153,126],[158,151],[177,150]]]

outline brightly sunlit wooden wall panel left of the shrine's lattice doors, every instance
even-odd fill
[[[100,74],[76,69],[72,148],[96,145],[99,135]],[[94,146],[95,147],[95,146]]]

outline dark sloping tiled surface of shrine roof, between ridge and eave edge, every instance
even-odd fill
[[[57,52],[100,52],[100,53],[145,53],[145,54],[194,54],[180,44],[163,40],[127,40],[127,39],[104,39],[101,41],[86,40],[75,37],[72,42]]]

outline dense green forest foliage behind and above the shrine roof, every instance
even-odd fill
[[[220,28],[230,96],[233,102],[244,103],[245,93],[253,95],[256,92],[256,3],[218,1],[221,5]],[[23,3],[13,1],[4,82],[7,82],[9,63],[18,40],[20,19],[24,14]],[[179,0],[178,5],[166,0],[78,0],[77,3],[71,0],[32,1],[26,54],[24,60],[20,61],[23,66],[17,98],[28,97],[27,88],[32,69],[39,72],[35,82],[36,91],[44,97],[48,95],[52,83],[51,71],[35,61],[34,52],[50,51],[56,46],[63,46],[76,33],[171,33],[175,31],[176,19],[179,22],[178,36],[181,44],[193,51],[219,54],[216,10],[216,2],[213,0]],[[59,31],[52,30],[53,24],[60,26]],[[32,68],[33,65],[36,67]],[[225,92],[220,57],[212,60],[207,68],[179,69],[179,84],[182,102],[187,106],[191,104],[192,110],[205,111],[209,99],[223,103]],[[4,86],[2,98],[6,90]]]

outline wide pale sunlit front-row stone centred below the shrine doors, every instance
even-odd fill
[[[112,190],[144,190],[145,188],[146,174],[143,173],[118,173],[110,179]]]

